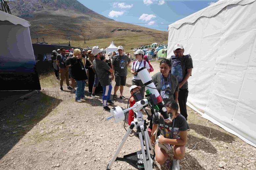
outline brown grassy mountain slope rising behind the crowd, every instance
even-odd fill
[[[33,42],[35,37],[47,37],[48,43],[63,43],[68,41],[67,36],[73,41],[82,41],[84,37],[91,40],[142,36],[156,42],[168,39],[166,31],[120,24],[86,8],[77,0],[13,0],[8,4],[13,15],[30,22]]]

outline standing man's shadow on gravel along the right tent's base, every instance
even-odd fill
[[[209,128],[207,126],[196,125],[196,124],[189,124],[189,126],[190,126],[190,129],[193,129],[196,133],[201,134],[205,137],[209,136]],[[227,143],[232,143],[235,140],[235,138],[232,135],[223,133],[214,128],[211,128],[210,139],[224,141]]]

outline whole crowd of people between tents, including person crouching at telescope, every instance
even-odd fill
[[[124,48],[118,46],[117,52],[104,54],[104,50],[99,46],[92,49],[71,49],[66,51],[60,48],[52,51],[53,68],[55,76],[60,79],[60,90],[63,91],[63,81],[66,80],[67,89],[76,92],[75,101],[81,103],[81,99],[86,100],[84,96],[84,88],[86,80],[88,83],[88,91],[91,97],[95,98],[95,93],[102,91],[102,106],[106,111],[110,111],[109,105],[113,105],[113,101],[117,99],[117,91],[119,90],[119,98],[126,100],[123,96],[124,86],[126,86],[127,67],[132,61],[131,54],[124,54]],[[192,74],[193,62],[190,55],[184,55],[182,44],[176,44],[174,47],[174,56],[170,59],[163,59],[159,65],[159,72],[152,76],[159,94],[162,96],[167,111],[173,120],[172,123],[164,123],[164,119],[160,115],[154,115],[150,120],[147,131],[150,135],[151,143],[155,143],[156,160],[163,164],[168,158],[168,150],[160,149],[161,145],[172,145],[174,149],[173,167],[179,169],[179,160],[185,156],[185,144],[187,141],[187,110],[186,102],[188,97],[187,80]],[[144,96],[144,85],[138,77],[137,71],[143,67],[148,72],[154,69],[144,55],[144,51],[138,49],[135,53],[135,60],[131,65],[131,81],[130,93],[141,93]],[[108,59],[106,59],[108,56]],[[69,83],[71,79],[71,85]],[[111,100],[112,81],[115,80],[113,98]],[[75,89],[77,87],[77,89]],[[142,89],[141,89],[142,88]],[[135,104],[133,97],[129,100],[130,106]],[[178,112],[180,109],[180,113]],[[151,110],[153,111],[153,110]],[[129,111],[128,124],[130,125],[134,119],[134,112]],[[156,137],[158,136],[158,137]]]

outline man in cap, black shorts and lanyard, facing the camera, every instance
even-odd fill
[[[113,100],[116,100],[116,92],[120,86],[120,99],[125,100],[123,96],[123,89],[126,85],[127,67],[131,62],[131,59],[124,54],[124,48],[120,45],[117,47],[118,54],[113,57],[112,65],[115,71],[115,87]]]

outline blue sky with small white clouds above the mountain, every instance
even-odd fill
[[[78,0],[87,8],[108,18],[167,31],[168,25],[217,0]]]

